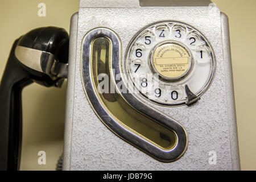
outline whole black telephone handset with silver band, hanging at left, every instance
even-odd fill
[[[68,71],[69,36],[63,28],[37,28],[15,40],[0,84],[0,170],[18,170],[22,89],[37,82],[60,87]]]

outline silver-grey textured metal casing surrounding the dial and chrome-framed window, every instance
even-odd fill
[[[217,7],[139,7],[133,3],[126,8],[85,6],[86,1],[81,1],[79,14],[73,15],[71,20],[64,169],[240,169],[226,15]],[[140,97],[148,105],[177,119],[187,131],[187,151],[172,163],[159,162],[112,133],[94,113],[81,80],[81,43],[86,32],[96,27],[108,27],[117,32],[122,41],[124,61],[133,36],[148,24],[162,20],[176,20],[197,28],[212,44],[217,59],[212,86],[193,106],[164,107]],[[216,152],[216,164],[209,163],[210,151]]]

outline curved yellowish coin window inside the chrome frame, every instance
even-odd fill
[[[110,55],[112,55],[111,42],[106,38],[97,38],[92,43],[92,75],[95,89],[99,88],[98,74],[105,74],[109,78],[109,85],[114,85],[110,79]],[[146,77],[141,78],[141,86],[147,88]],[[110,87],[110,86],[109,86]],[[108,91],[108,89],[106,89]],[[103,92],[102,92],[103,91]],[[110,91],[110,90],[109,90]],[[140,135],[148,142],[155,144],[162,150],[171,150],[176,146],[177,137],[174,131],[159,125],[157,122],[133,109],[119,93],[106,93],[104,90],[98,92],[98,97],[105,109],[123,126]]]

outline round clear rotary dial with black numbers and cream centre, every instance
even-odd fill
[[[213,80],[213,50],[203,34],[180,22],[144,28],[126,53],[125,73],[135,90],[161,105],[199,100]]]

